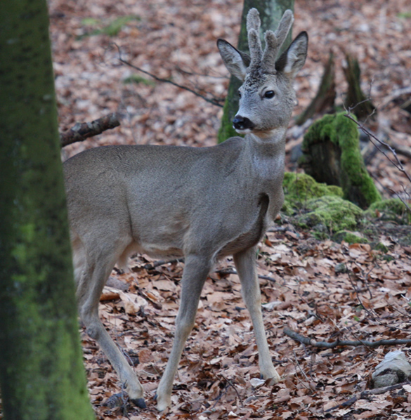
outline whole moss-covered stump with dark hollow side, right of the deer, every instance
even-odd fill
[[[320,183],[339,185],[344,199],[367,209],[381,200],[360,154],[358,128],[344,113],[315,122],[302,145],[300,165]]]

